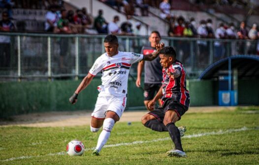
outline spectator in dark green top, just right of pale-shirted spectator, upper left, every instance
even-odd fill
[[[66,10],[61,10],[61,18],[58,21],[58,30],[59,33],[65,33],[70,34],[72,31],[69,27],[69,21],[66,19]],[[61,72],[64,72],[65,66],[64,66],[64,58],[66,54],[68,53],[69,48],[69,38],[67,37],[61,37],[60,38],[60,69]]]

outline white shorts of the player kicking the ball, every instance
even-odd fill
[[[95,110],[91,116],[98,119],[104,119],[106,111],[111,110],[121,118],[126,107],[126,102],[127,97],[118,97],[106,93],[99,93]]]

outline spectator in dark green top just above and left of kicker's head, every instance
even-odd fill
[[[95,18],[94,27],[100,34],[106,34],[108,23],[102,17],[103,11],[101,9],[98,10],[98,16]]]

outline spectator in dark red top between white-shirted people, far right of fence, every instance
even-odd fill
[[[245,22],[241,22],[240,24],[240,28],[237,32],[237,37],[238,39],[240,40],[243,40],[243,39],[248,39],[248,30],[246,29],[246,24]],[[246,47],[246,42],[245,41],[239,41],[237,43],[237,52],[238,54],[245,54],[245,47]]]

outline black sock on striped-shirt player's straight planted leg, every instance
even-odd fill
[[[173,140],[173,143],[175,145],[175,149],[184,151],[183,148],[182,148],[180,131],[178,130],[178,128],[174,125],[174,123],[167,124],[166,128],[169,132],[169,135],[170,135],[171,139]]]

